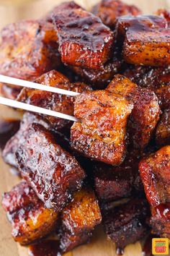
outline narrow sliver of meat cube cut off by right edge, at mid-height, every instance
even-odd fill
[[[166,109],[161,116],[156,129],[156,142],[158,145],[170,144],[170,109]]]

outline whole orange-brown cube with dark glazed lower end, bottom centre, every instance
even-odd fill
[[[59,236],[62,252],[89,242],[94,227],[101,221],[99,205],[92,189],[83,187],[74,193],[73,202],[61,212]]]

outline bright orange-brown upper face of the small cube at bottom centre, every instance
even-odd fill
[[[101,213],[94,192],[88,187],[76,192],[61,213],[62,228],[73,235],[92,231],[101,221]]]

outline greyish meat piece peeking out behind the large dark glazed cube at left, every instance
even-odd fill
[[[24,143],[25,137],[27,135],[27,129],[34,122],[42,124],[47,129],[50,127],[48,122],[43,121],[42,119],[40,119],[39,116],[35,114],[25,113],[20,123],[19,131],[6,143],[2,153],[4,161],[9,165],[17,167],[15,153],[19,148],[19,145]]]

